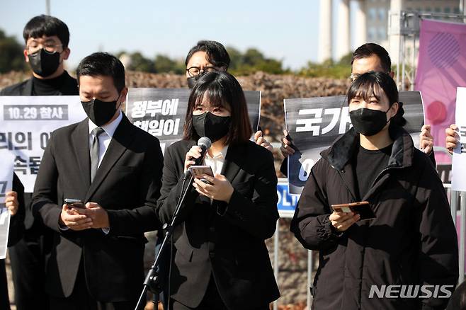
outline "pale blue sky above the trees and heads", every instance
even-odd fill
[[[292,69],[317,60],[319,0],[50,0],[50,6],[69,27],[71,68],[98,50],[184,59],[202,39],[241,51],[256,47]],[[0,28],[23,42],[25,23],[45,13],[45,0],[2,0],[1,8]]]

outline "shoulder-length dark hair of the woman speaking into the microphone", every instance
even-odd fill
[[[229,127],[227,144],[246,142],[252,135],[246,98],[237,79],[227,72],[208,72],[195,84],[189,96],[183,139],[197,140],[200,137],[193,128],[193,110],[204,98],[212,107],[230,108],[232,120]]]

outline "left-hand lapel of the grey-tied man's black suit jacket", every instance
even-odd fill
[[[83,120],[72,133],[74,153],[78,159],[79,173],[83,178],[85,188],[91,185],[91,157],[89,156],[89,126],[88,119]]]

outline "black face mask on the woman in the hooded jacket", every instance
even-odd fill
[[[390,110],[390,108],[388,109]],[[351,124],[356,132],[365,135],[366,137],[373,136],[387,124],[387,111],[373,110],[368,108],[360,108],[351,111]]]

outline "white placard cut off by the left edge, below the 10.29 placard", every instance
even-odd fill
[[[14,156],[8,151],[0,151],[0,259],[5,259],[10,230],[10,212],[6,209],[6,192],[13,188]]]

